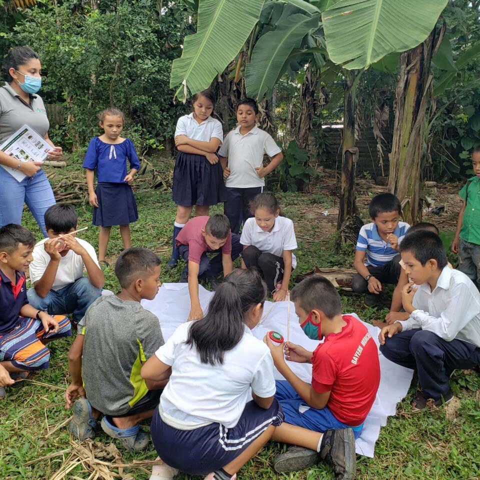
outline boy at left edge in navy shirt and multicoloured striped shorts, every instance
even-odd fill
[[[71,334],[67,317],[53,318],[28,303],[24,271],[34,244],[23,226],[0,228],[0,398],[15,378],[48,368],[47,341]]]

